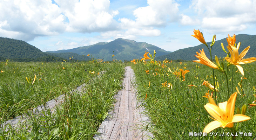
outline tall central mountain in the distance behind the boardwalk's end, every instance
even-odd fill
[[[51,53],[73,52],[79,55],[88,54],[93,55],[94,58],[104,58],[105,61],[112,61],[112,55],[117,60],[132,60],[143,57],[145,51],[153,54],[156,50],[156,56],[169,54],[169,51],[163,50],[146,42],[136,42],[134,40],[127,40],[117,38],[111,42],[99,42],[94,45],[78,47],[69,50],[47,51]],[[114,51],[114,53],[113,53]]]

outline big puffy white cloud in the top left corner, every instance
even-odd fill
[[[36,36],[57,35],[65,30],[65,17],[51,0],[15,0],[0,2],[1,36],[25,41]]]

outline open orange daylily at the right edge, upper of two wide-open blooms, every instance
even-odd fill
[[[239,64],[247,64],[256,61],[255,57],[246,58],[244,59],[244,56],[248,52],[250,46],[245,48],[240,55],[238,55],[238,49],[240,47],[240,42],[237,44],[237,47],[234,45],[230,45],[230,48],[228,47],[228,50],[230,52],[231,57],[225,57],[225,59],[230,63],[237,67],[237,69],[240,71],[242,75],[244,75],[244,71],[241,65]]]

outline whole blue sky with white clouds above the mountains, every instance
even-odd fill
[[[1,37],[42,51],[120,37],[175,51],[200,44],[194,29],[207,42],[256,34],[255,0],[1,0],[0,13]]]

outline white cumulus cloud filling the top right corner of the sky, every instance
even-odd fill
[[[191,8],[202,17],[201,26],[209,33],[242,31],[256,23],[255,0],[193,0]]]

